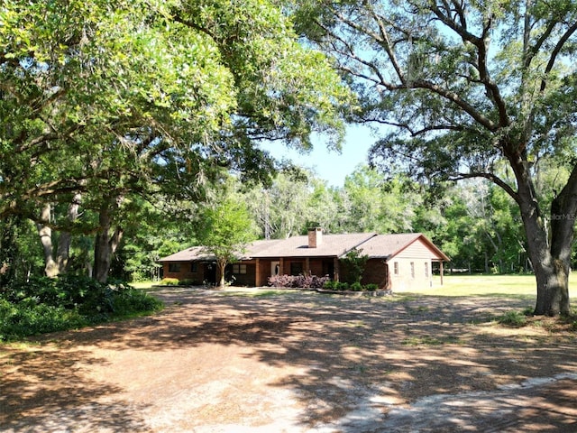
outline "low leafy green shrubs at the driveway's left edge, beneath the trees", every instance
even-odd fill
[[[83,327],[160,309],[159,300],[121,281],[32,278],[0,292],[0,340]]]

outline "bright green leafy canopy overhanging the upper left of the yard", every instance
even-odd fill
[[[348,93],[290,29],[260,0],[7,0],[0,215],[78,192],[93,208],[190,195],[222,167],[259,176],[272,164],[255,140],[338,145]]]

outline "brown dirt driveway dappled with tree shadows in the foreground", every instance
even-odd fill
[[[259,293],[0,345],[0,431],[577,431],[575,335],[491,321],[527,301]]]

